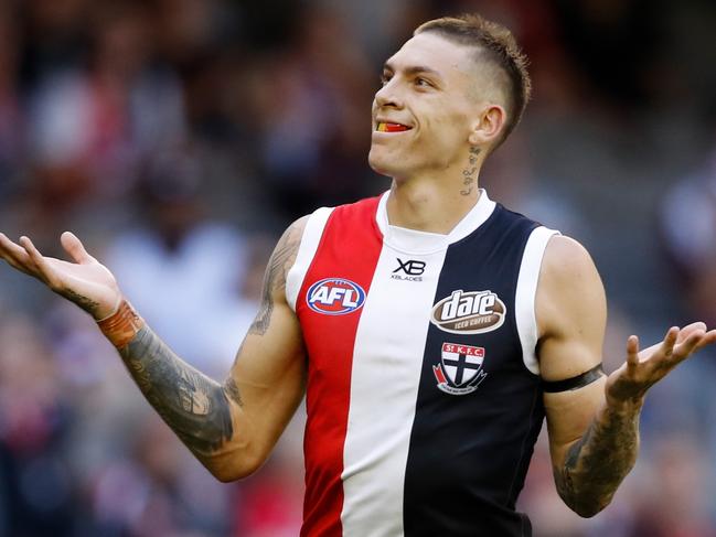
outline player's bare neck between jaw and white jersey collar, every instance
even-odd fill
[[[449,234],[480,197],[478,172],[469,184],[419,178],[394,179],[387,201],[391,225]]]

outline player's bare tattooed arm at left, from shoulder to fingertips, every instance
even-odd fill
[[[99,320],[148,401],[214,475],[231,481],[266,460],[303,395],[303,344],[284,292],[303,224],[289,227],[271,256],[260,311],[224,384],[183,362],[133,316],[111,273],[74,235],[62,236],[74,262],[43,257],[30,239],[14,244],[1,234],[0,257]]]

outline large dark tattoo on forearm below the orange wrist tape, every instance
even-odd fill
[[[241,402],[233,380],[221,386],[182,362],[148,326],[119,351],[147,400],[197,457],[233,436],[228,399]]]

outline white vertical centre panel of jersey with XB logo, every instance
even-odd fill
[[[446,251],[406,255],[383,245],[353,352],[342,474],[345,537],[403,535],[408,447]],[[413,275],[400,266],[413,267]]]

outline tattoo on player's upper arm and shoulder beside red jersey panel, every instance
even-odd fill
[[[274,313],[274,293],[286,290],[286,275],[296,260],[298,246],[303,234],[303,226],[298,221],[293,223],[276,245],[271,258],[268,260],[264,276],[264,290],[261,292],[261,307],[256,319],[248,329],[249,334],[264,335],[271,322]]]

